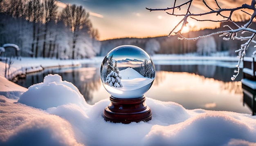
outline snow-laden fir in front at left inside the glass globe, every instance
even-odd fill
[[[108,74],[106,82],[108,86],[113,87],[123,87],[123,84],[121,82],[121,79],[119,78],[119,75],[115,71],[111,71],[110,74]]]

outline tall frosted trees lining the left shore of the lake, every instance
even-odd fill
[[[100,51],[89,12],[57,0],[0,0],[0,46],[17,44],[21,56],[79,59]]]

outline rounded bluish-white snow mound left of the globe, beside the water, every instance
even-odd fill
[[[30,86],[18,102],[44,110],[69,103],[88,106],[78,88],[70,82],[62,81],[62,77],[57,74],[47,75],[43,83]]]

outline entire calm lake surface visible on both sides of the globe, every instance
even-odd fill
[[[214,111],[249,113],[243,104],[242,73],[235,81],[230,77],[235,68],[215,65],[155,65],[156,76],[146,96],[161,101],[181,104],[186,109],[203,108]],[[109,98],[100,79],[100,64],[83,64],[81,67],[46,69],[28,74],[17,84],[28,88],[43,82],[45,75],[59,74],[72,82],[88,104]]]

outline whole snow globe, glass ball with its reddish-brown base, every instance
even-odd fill
[[[112,49],[101,63],[100,75],[111,94],[103,114],[106,121],[128,124],[151,119],[144,94],[155,79],[155,66],[143,49],[132,45]]]

